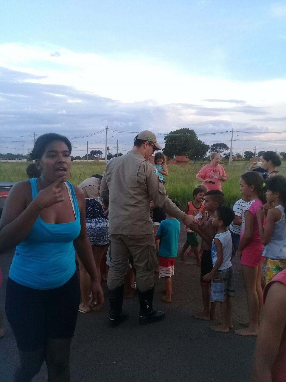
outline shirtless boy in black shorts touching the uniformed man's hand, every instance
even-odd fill
[[[202,303],[204,310],[194,314],[194,318],[202,320],[216,320],[215,303],[210,304],[210,281],[205,281],[203,277],[210,273],[212,266],[212,241],[214,240],[217,228],[212,225],[212,218],[215,211],[222,206],[224,202],[222,191],[208,191],[204,196],[205,209],[209,213],[209,220],[204,228],[201,226],[193,226],[192,230],[198,232],[202,238],[202,263],[201,263],[201,288],[202,288]]]

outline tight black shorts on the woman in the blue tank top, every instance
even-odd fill
[[[62,286],[33,289],[7,280],[6,316],[22,351],[45,346],[47,338],[71,338],[80,302],[76,272]]]

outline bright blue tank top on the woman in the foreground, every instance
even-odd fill
[[[37,178],[30,179],[32,199],[38,194]],[[80,212],[76,194],[70,189],[76,220],[70,223],[45,223],[40,215],[27,237],[16,247],[9,277],[34,289],[53,289],[64,285],[76,271],[73,240],[80,233]]]

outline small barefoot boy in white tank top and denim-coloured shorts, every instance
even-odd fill
[[[203,280],[212,280],[210,301],[220,303],[222,322],[211,326],[215,332],[229,332],[233,327],[232,298],[235,296],[234,274],[231,264],[232,242],[227,227],[233,221],[235,214],[228,207],[219,207],[212,219],[212,225],[217,228],[217,234],[212,241],[212,265],[210,273],[204,275]]]

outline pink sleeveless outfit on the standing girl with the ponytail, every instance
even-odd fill
[[[248,202],[243,209],[240,240],[244,235],[245,211],[251,212],[254,217],[251,241],[243,249],[241,254],[241,264],[248,265],[249,267],[257,267],[260,264],[260,262],[264,260],[264,257],[262,257],[263,244],[261,243],[261,239],[259,236],[259,229],[256,217],[256,211],[259,209],[260,206],[263,206],[261,200],[252,200],[251,202]]]

